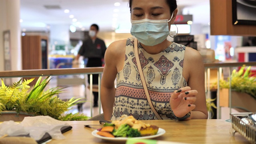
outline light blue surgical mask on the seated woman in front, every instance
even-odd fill
[[[169,35],[170,20],[132,20],[131,34],[146,46],[160,44]]]

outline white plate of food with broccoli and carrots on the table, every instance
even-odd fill
[[[133,116],[122,116],[120,120],[105,123],[100,129],[92,131],[92,135],[103,140],[121,142],[128,138],[150,139],[162,136],[165,130],[158,126],[145,124]]]

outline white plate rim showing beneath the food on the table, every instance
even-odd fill
[[[109,138],[109,137],[105,137],[105,136],[100,136],[98,134],[96,134],[98,132],[98,130],[94,130],[92,131],[92,135],[97,137],[97,138],[101,138],[103,140],[109,140],[109,141],[115,141],[115,142],[124,142],[126,141],[128,138],[124,138],[124,137],[117,137],[117,138]],[[156,133],[156,135],[153,136],[141,136],[141,137],[135,137],[132,139],[150,139],[150,138],[156,138],[158,136],[162,136],[165,133],[165,130],[162,128],[158,128],[158,132]],[[131,139],[131,138],[129,138]]]

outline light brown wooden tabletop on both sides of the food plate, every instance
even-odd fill
[[[231,122],[225,120],[143,120],[148,124],[159,126],[166,133],[155,140],[183,142],[191,144],[249,144],[243,136],[236,132],[230,134]],[[84,124],[99,124],[98,121],[69,121],[73,128],[65,132],[64,140],[52,140],[48,144],[113,144],[92,136],[94,128],[84,127]]]

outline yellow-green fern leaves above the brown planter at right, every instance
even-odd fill
[[[239,71],[232,71],[231,89],[238,92],[245,92],[256,99],[256,77],[252,76],[250,68],[251,66],[248,66],[245,70],[245,66],[242,66]],[[229,84],[230,78],[228,80],[220,80],[220,88],[230,88]]]

